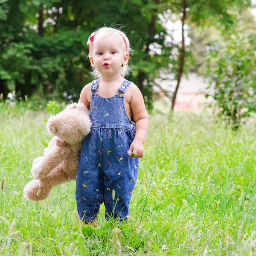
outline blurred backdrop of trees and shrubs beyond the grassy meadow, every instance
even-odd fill
[[[0,104],[78,101],[104,25],[127,34],[149,111],[214,105],[233,124],[255,111],[255,0],[0,0]]]

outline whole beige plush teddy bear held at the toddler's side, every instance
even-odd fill
[[[44,156],[35,158],[32,163],[31,172],[35,180],[24,188],[26,199],[45,200],[54,186],[76,179],[81,145],[90,127],[89,111],[82,102],[67,105],[48,119],[47,130],[54,136],[44,149]],[[58,147],[57,139],[68,144]]]

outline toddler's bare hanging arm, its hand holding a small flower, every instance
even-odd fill
[[[130,104],[134,122],[136,123],[135,137],[131,143],[130,150],[132,149],[132,152],[141,158],[144,155],[143,144],[147,137],[149,122],[143,96],[135,84],[132,85]]]

